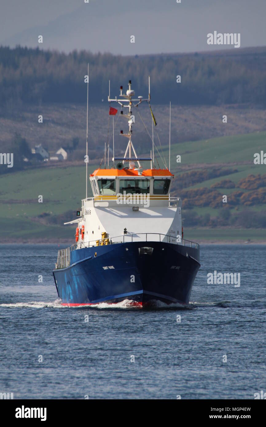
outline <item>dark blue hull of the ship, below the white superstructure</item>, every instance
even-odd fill
[[[149,248],[149,249],[146,249]],[[117,243],[76,249],[70,266],[53,271],[62,304],[133,301],[188,304],[199,249],[163,242]]]

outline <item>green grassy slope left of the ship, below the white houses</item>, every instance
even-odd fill
[[[88,173],[95,168],[89,165]],[[32,222],[31,217],[43,212],[60,214],[73,210],[74,219],[76,211],[81,208],[81,199],[85,198],[85,167],[38,168],[1,175],[0,188],[2,241],[7,237],[48,240],[53,236],[73,240],[72,226],[62,224],[61,227],[58,225],[47,227]],[[43,203],[38,203],[39,195],[43,196]],[[88,197],[91,196],[89,185]],[[18,202],[13,203],[12,200]]]

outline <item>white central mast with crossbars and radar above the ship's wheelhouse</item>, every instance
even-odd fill
[[[150,161],[150,158],[138,158],[136,151],[134,149],[133,143],[132,143],[132,125],[135,123],[135,117],[132,114],[132,106],[137,107],[141,102],[143,101],[148,101],[150,99],[150,95],[148,99],[143,99],[143,97],[138,97],[138,99],[133,99],[132,97],[134,96],[135,92],[132,90],[132,83],[131,80],[129,80],[128,83],[128,90],[126,91],[126,94],[123,94],[123,86],[120,86],[120,98],[121,99],[117,99],[117,97],[115,97],[115,99],[111,99],[110,94],[108,96],[108,102],[117,102],[118,104],[121,105],[122,108],[128,108],[129,112],[128,114],[123,114],[123,111],[121,110],[120,112],[120,116],[126,117],[128,118],[128,124],[129,124],[129,132],[127,134],[124,134],[123,131],[120,131],[120,135],[125,136],[129,139],[129,142],[127,144],[126,147],[126,152],[123,158],[121,157],[117,157],[114,158],[113,157],[113,161],[115,160],[122,160],[123,163],[125,161],[129,161],[129,162],[134,162],[137,161],[138,167],[140,168],[140,161]],[[134,104],[134,102],[137,102],[136,104]],[[133,153],[132,153],[133,152]],[[127,157],[128,154],[128,157]],[[134,157],[132,157],[132,154],[134,155]]]

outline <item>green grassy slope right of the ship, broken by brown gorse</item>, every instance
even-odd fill
[[[266,132],[256,132],[248,135],[237,135],[222,138],[213,138],[210,140],[196,141],[190,143],[180,143],[171,145],[171,171],[175,173],[175,179],[178,175],[190,170],[200,170],[203,168],[212,168],[214,165],[221,166],[224,169],[237,169],[237,173],[223,175],[222,177],[209,179],[199,184],[187,187],[187,190],[201,187],[210,188],[212,184],[224,179],[230,179],[237,184],[240,179],[250,174],[266,174],[266,165],[254,164],[254,153],[260,153],[260,150],[266,152]],[[184,153],[184,154],[183,154]],[[176,155],[181,155],[181,163],[176,163]],[[168,147],[164,149],[164,156],[169,155]],[[187,166],[191,168],[187,169]],[[243,190],[242,188],[217,188],[220,193],[229,195],[234,191]],[[248,207],[254,211],[265,210],[265,205],[254,205]],[[239,205],[238,211],[246,209]],[[218,209],[213,208],[195,208],[198,214],[210,213],[211,216],[218,215]],[[254,233],[256,234],[256,233]]]

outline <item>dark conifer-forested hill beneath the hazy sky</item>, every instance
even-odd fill
[[[266,105],[266,47],[142,56],[0,47],[0,103],[4,108],[25,102],[83,103],[88,62],[94,103],[106,99],[109,79],[113,94],[132,79],[136,92],[147,96],[150,74],[153,103]]]

